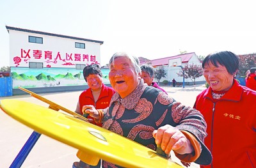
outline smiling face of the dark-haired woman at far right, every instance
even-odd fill
[[[204,77],[206,82],[216,91],[227,91],[233,85],[234,75],[228,73],[227,68],[223,65],[217,64],[214,66],[211,61],[205,63]]]

